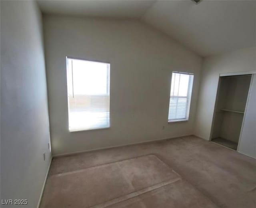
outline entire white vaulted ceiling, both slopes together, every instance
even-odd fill
[[[38,0],[43,13],[141,19],[202,56],[256,45],[255,0]]]

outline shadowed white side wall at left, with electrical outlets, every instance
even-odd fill
[[[1,0],[1,199],[28,200],[3,207],[36,208],[50,163],[41,18],[35,2]]]

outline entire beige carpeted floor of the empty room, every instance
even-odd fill
[[[41,208],[255,208],[256,160],[190,136],[53,158]]]

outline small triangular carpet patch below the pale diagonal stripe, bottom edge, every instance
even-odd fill
[[[178,180],[109,208],[217,208],[196,188]]]

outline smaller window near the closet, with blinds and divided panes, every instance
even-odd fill
[[[188,120],[193,78],[189,73],[172,73],[168,121]]]

